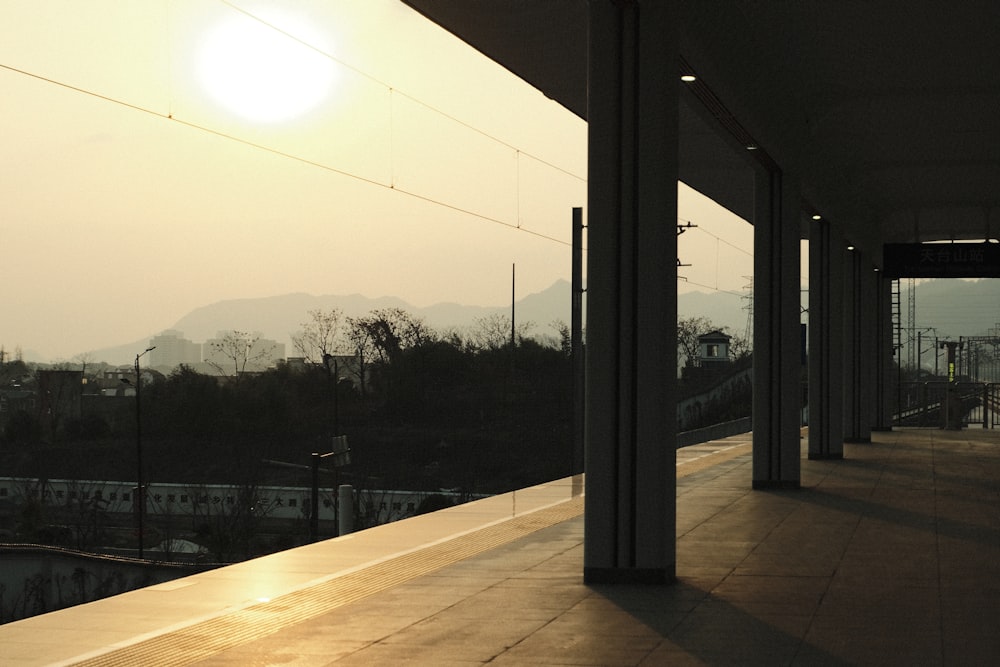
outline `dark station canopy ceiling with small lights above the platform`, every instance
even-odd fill
[[[587,0],[403,1],[586,119]],[[873,253],[1000,236],[1000,3],[683,5],[681,180],[752,221],[773,161]]]

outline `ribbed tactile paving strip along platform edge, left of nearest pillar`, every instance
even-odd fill
[[[76,664],[93,667],[190,664],[508,544],[582,513],[583,497],[580,496]]]

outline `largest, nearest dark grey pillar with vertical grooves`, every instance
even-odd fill
[[[675,6],[589,3],[590,583],[676,576]]]

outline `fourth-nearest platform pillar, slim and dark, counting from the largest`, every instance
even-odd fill
[[[865,267],[860,249],[847,253],[844,290],[844,442],[871,442],[874,399],[871,375],[872,344],[871,269]]]

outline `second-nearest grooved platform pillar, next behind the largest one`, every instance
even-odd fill
[[[801,368],[798,189],[758,172],[754,210],[753,488],[798,488]]]

